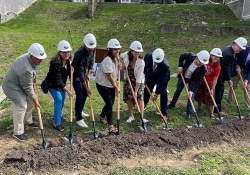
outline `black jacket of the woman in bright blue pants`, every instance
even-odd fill
[[[66,66],[63,67],[62,59],[59,54],[53,57],[50,61],[49,72],[46,80],[49,82],[50,88],[62,90],[66,86],[67,78],[70,77],[70,61],[66,61]]]

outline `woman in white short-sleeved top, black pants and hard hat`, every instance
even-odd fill
[[[117,39],[113,38],[109,40],[107,48],[108,53],[96,73],[96,88],[105,102],[99,121],[108,125],[109,134],[116,134],[118,131],[112,124],[112,113],[115,93],[120,93],[116,81],[119,71],[118,58],[122,46]]]

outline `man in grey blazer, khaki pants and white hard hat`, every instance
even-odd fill
[[[13,137],[18,141],[28,140],[24,134],[24,124],[32,128],[39,126],[32,120],[33,104],[36,109],[40,108],[34,83],[36,82],[37,68],[46,57],[43,46],[39,43],[33,43],[30,45],[28,53],[19,56],[11,64],[3,78],[3,92],[12,103]]]

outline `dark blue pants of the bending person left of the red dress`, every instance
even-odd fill
[[[185,79],[185,82],[188,83],[188,79],[186,79],[186,78],[184,78],[184,79]],[[176,85],[176,90],[175,90],[175,93],[174,93],[174,97],[173,97],[173,99],[171,101],[171,104],[173,104],[173,105],[176,104],[176,102],[178,101],[178,98],[179,98],[183,88],[184,88],[184,84],[182,82],[182,79],[178,78],[177,85]],[[192,95],[192,102],[194,102],[194,93]],[[187,107],[186,107],[186,114],[188,115],[188,114],[192,114],[192,113],[193,113],[193,109],[192,109],[190,101],[188,100]]]

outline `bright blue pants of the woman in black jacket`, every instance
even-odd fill
[[[62,119],[62,109],[65,100],[65,91],[59,91],[53,88],[49,89],[50,94],[54,99],[54,124],[60,125]]]

